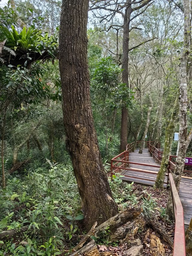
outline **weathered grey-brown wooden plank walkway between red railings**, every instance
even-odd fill
[[[155,184],[159,164],[156,163],[154,158],[149,154],[148,149],[143,149],[143,154],[138,154],[138,152],[139,149],[136,149],[135,152],[129,153],[130,162],[152,164],[156,165],[157,167],[129,164],[129,170],[122,170],[121,174],[131,177],[124,176],[122,177],[122,180],[152,186]],[[146,173],[146,171],[148,173]],[[167,184],[167,177],[165,178],[165,183]],[[165,188],[167,187],[166,184],[164,184]],[[192,178],[182,176],[179,186],[179,197],[184,210],[184,224],[186,228],[192,218]]]

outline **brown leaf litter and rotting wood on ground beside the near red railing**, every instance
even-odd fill
[[[173,240],[174,223],[166,220],[165,215],[165,207],[167,204],[169,191],[167,189],[159,190],[154,187],[137,184],[132,185],[132,190],[133,193],[137,195],[143,193],[144,191],[142,200],[146,198],[146,201],[149,201],[149,204],[146,204],[146,207],[150,208],[150,200],[153,203],[154,201],[156,202],[156,207],[154,207],[153,205],[153,217],[155,217],[155,221],[157,221],[161,225],[161,227],[166,231],[167,235],[170,236],[170,238]],[[142,204],[142,200],[137,203],[137,207],[145,207]],[[143,210],[145,212],[145,209]],[[142,221],[143,220],[146,220],[146,216],[143,216]],[[117,242],[110,242],[110,239],[107,238],[103,240],[103,243],[101,241],[96,241],[99,254],[101,256],[172,255],[172,247],[170,246],[170,244],[168,244],[168,242],[164,240],[158,230],[154,230],[152,227],[150,227],[150,225],[143,225],[142,221],[141,223],[139,223],[141,224],[139,228],[133,227],[133,230],[128,232],[125,238],[120,239]],[[127,223],[127,225],[129,225],[129,223]],[[80,256],[86,254],[79,253],[77,255]]]

